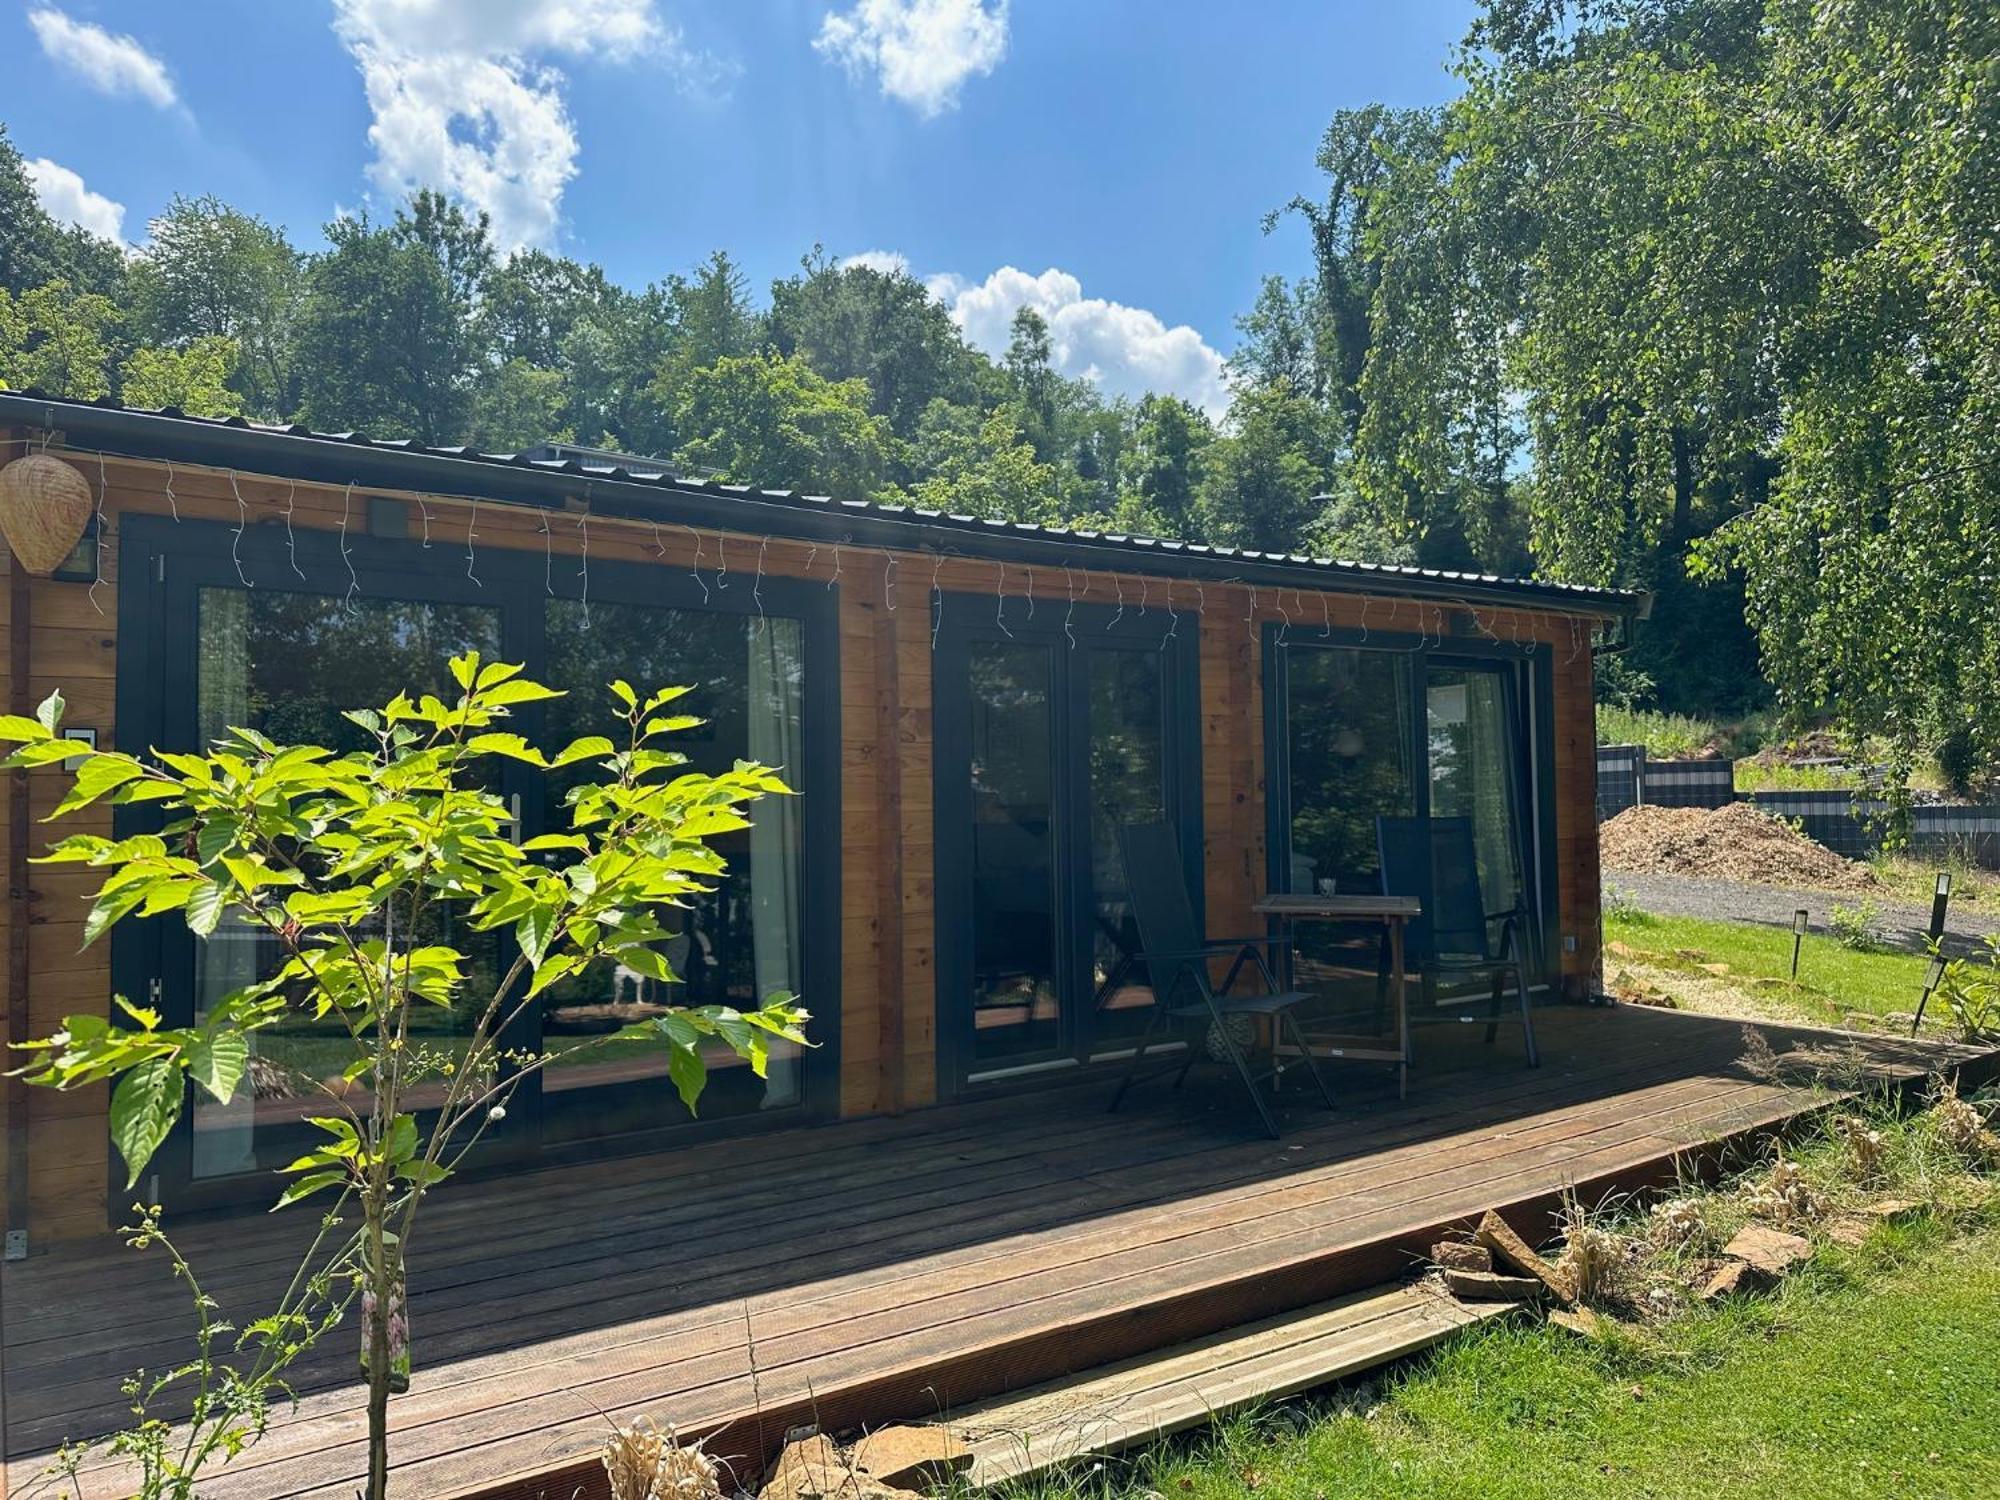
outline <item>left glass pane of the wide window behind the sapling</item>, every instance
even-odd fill
[[[500,650],[500,612],[470,604],[412,600],[342,600],[274,588],[202,588],[196,594],[196,732],[210,744],[232,726],[260,730],[280,744],[364,748],[366,736],[342,718],[378,704],[394,690],[456,694],[446,662],[466,650]],[[424,1008],[414,1046],[428,1060],[464,1056],[474,1006],[500,982],[496,934],[430,934],[470,956],[472,982],[458,1010]],[[194,1010],[272,974],[278,938],[266,928],[226,918],[194,942]],[[354,1060],[346,1026],[298,1010],[250,1036],[250,1068],[228,1104],[194,1090],[192,1176],[218,1178],[270,1170],[298,1154],[314,1134],[302,1122],[328,1112],[328,1092],[346,1092],[342,1068]],[[438,1072],[432,1070],[432,1078]],[[406,1100],[422,1110],[442,1102],[440,1082],[418,1082]],[[366,1110],[364,1100],[350,1104]]]

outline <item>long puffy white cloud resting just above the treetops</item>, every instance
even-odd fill
[[[1188,324],[1168,328],[1146,308],[1084,296],[1066,270],[1030,276],[1002,266],[984,282],[946,274],[926,286],[966,338],[992,356],[1006,352],[1014,314],[1034,308],[1048,322],[1050,354],[1062,374],[1092,380],[1112,396],[1180,396],[1218,420],[1228,410],[1222,354],[1208,340]]]

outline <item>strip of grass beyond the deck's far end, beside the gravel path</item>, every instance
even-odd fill
[[[1628,974],[1686,1010],[1820,1026],[1916,1010],[1930,962],[1924,954],[1856,952],[1808,932],[1794,984],[1788,930],[1650,912],[1608,912],[1604,942],[1604,978],[1612,990]],[[1940,1026],[1950,1022],[1936,1010]],[[1926,1012],[1926,1030],[1930,1020]]]

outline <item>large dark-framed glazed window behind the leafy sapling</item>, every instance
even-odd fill
[[[486,552],[472,578],[458,554],[426,556],[420,542],[352,538],[342,552],[334,538],[306,532],[296,542],[256,530],[232,538],[226,528],[146,518],[128,522],[122,540],[128,630],[118,716],[128,742],[194,748],[246,726],[280,742],[356,748],[358,730],[342,710],[380,704],[396,690],[448,696],[448,658],[478,650],[524,662],[566,692],[522,712],[518,728],[530,738],[560,744],[612,732],[606,684],[614,678],[688,686],[682,706],[704,722],[672,748],[690,768],[720,772],[760,760],[800,792],[758,802],[748,830],[716,842],[728,870],[714,890],[662,914],[674,984],[630,972],[570,980],[530,1012],[520,1034],[508,1034],[512,1052],[554,1056],[488,1132],[496,1154],[690,1128],[662,1054],[644,1044],[590,1046],[670,1004],[746,1008],[782,990],[814,1016],[816,1046],[774,1046],[766,1078],[726,1050],[710,1056],[698,1128],[832,1110],[840,1030],[836,594],[766,578],[754,592],[710,588],[704,598],[686,572],[608,564],[592,568],[586,602],[574,560],[550,566],[540,554]],[[532,836],[566,826],[564,798],[584,774],[544,776],[508,762],[494,770],[490,790],[520,810],[518,828]],[[490,992],[512,960],[504,934],[436,936],[472,956],[468,994]],[[276,962],[276,942],[248,924],[224,924],[202,942],[178,924],[152,922],[122,928],[114,944],[118,988],[158,994],[170,1022],[192,1020]],[[432,1012],[424,1024],[420,1046],[462,1054],[470,1016]],[[230,1196],[232,1180],[260,1190],[246,1174],[296,1154],[304,1120],[324,1112],[328,1090],[344,1088],[338,1074],[348,1058],[332,1020],[300,1016],[260,1032],[244,1086],[228,1104],[196,1096],[160,1156],[162,1172],[180,1186],[210,1184],[216,1200]],[[422,1090],[412,1102],[424,1106]]]

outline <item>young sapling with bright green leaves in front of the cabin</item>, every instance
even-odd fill
[[[584,736],[546,752],[500,726],[514,708],[562,694],[478,654],[452,658],[450,670],[452,702],[398,694],[378,710],[348,712],[354,750],[280,746],[230,728],[198,754],[84,752],[52,818],[112,802],[134,820],[156,814],[158,828],[76,834],[42,856],[106,870],[86,944],[126,918],[160,914],[178,914],[204,940],[228,916],[278,944],[276,972],[190,1024],[170,1026],[158,1010],[114,996],[112,1018],[68,1016],[54,1036],[28,1044],[28,1082],[112,1080],[112,1140],[134,1184],[174,1128],[190,1080],[216,1100],[236,1096],[256,1032],[332,1018],[352,1044],[338,1076],[306,1080],[326,1108],[310,1120],[318,1144],[284,1168],[290,1182],[278,1206],[336,1194],[356,1216],[350,1234],[334,1236],[326,1264],[354,1278],[364,1314],[370,1500],[388,1492],[388,1400],[410,1374],[404,1268],[418,1210],[550,1060],[510,1052],[502,1038],[560,980],[616,968],[676,984],[666,920],[722,874],[710,840],[746,828],[758,798],[788,794],[776,770],[752,762],[720,774],[686,770],[686,756],[668,744],[698,722],[672,712],[686,688],[642,696],[612,682],[624,742]],[[10,766],[78,754],[62,738],[60,694],[36,718],[0,716],[0,742],[18,744]],[[566,794],[566,828],[520,840],[490,790],[502,760],[598,774]],[[478,990],[468,956],[434,940],[458,928],[510,944],[498,978]],[[472,1016],[462,1050],[422,1044],[422,1012],[434,1006]],[[774,1040],[806,1042],[808,1016],[788,994],[752,1010],[644,1010],[584,1046],[664,1048],[688,1110],[706,1082],[706,1044],[728,1046],[764,1076]],[[418,1086],[440,1096],[428,1118],[416,1114]]]

